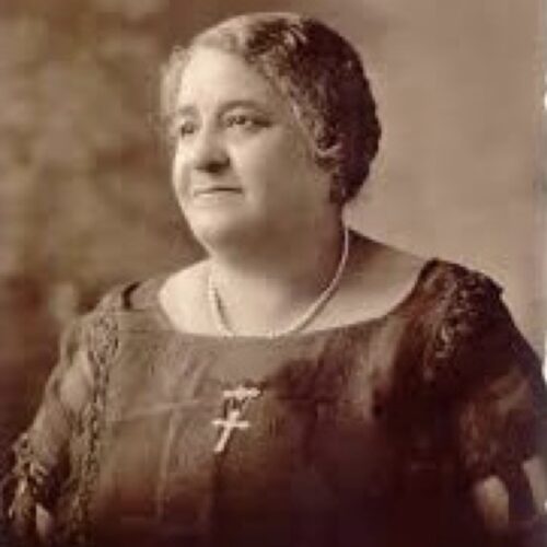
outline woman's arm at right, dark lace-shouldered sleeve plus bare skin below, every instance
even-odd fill
[[[433,356],[453,386],[457,467],[488,542],[546,547],[547,392],[500,293],[485,276],[462,274]]]

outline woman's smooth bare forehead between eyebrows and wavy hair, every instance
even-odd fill
[[[287,107],[266,78],[237,56],[203,46],[191,50],[178,88],[177,108],[226,102]]]

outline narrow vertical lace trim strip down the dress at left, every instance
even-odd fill
[[[94,373],[94,389],[91,401],[82,416],[86,449],[81,461],[79,487],[74,496],[71,517],[65,533],[68,545],[85,546],[89,544],[91,500],[100,472],[109,365],[117,354],[118,346],[116,318],[112,310],[101,311],[94,318],[86,339],[88,354]]]

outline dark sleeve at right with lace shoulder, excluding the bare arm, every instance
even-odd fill
[[[423,374],[454,405],[461,464],[470,480],[504,476],[537,454],[546,431],[535,356],[486,276],[463,270],[447,295]]]

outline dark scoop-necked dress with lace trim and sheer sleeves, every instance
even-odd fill
[[[491,280],[430,260],[386,315],[278,339],[177,331],[160,282],[66,334],[15,450],[27,538],[38,500],[59,545],[485,546],[470,487],[496,475],[513,545],[545,545],[540,366]]]

